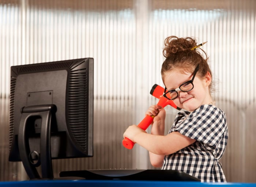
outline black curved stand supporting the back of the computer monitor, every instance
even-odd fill
[[[53,179],[50,132],[56,110],[54,104],[27,106],[21,109],[22,116],[18,134],[19,154],[30,179]],[[30,150],[28,135],[29,128],[31,128],[31,125],[34,125],[34,123],[31,122],[38,117],[42,120],[40,154],[35,150]],[[42,177],[38,174],[36,169],[40,165]]]

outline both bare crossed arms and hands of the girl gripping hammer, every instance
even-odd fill
[[[166,112],[161,106],[151,106],[146,115],[155,116],[151,134],[147,134],[146,131],[133,125],[124,132],[124,138],[129,138],[146,148],[149,151],[150,162],[154,167],[162,166],[165,155],[173,154],[196,141],[179,132],[172,132],[164,136]]]

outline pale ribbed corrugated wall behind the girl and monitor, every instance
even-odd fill
[[[229,182],[256,182],[254,0],[0,0],[0,180],[24,180],[8,162],[10,66],[93,57],[94,157],[54,160],[63,170],[153,168],[147,151],[126,150],[123,132],[157,102],[163,40],[170,35],[208,41],[214,98],[227,114],[222,159]],[[166,107],[167,123],[175,110]],[[167,132],[167,130],[166,130]]]

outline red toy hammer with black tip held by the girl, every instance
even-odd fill
[[[157,84],[155,84],[150,91],[150,94],[153,95],[154,97],[158,98],[159,101],[157,103],[157,105],[161,106],[161,107],[166,107],[167,105],[170,105],[174,108],[176,108],[177,110],[181,110],[181,108],[177,107],[172,100],[169,100],[165,97],[163,97],[163,92],[165,91],[165,89]],[[138,127],[140,127],[141,129],[143,129],[144,131],[150,126],[150,124],[153,122],[153,118],[155,116],[146,116],[139,124]],[[127,149],[132,149],[134,146],[134,143],[128,139],[128,138],[124,138],[123,139],[123,146]]]

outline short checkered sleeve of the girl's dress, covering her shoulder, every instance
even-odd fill
[[[226,130],[226,116],[219,108],[202,105],[176,123],[174,131],[191,139],[217,147]]]

